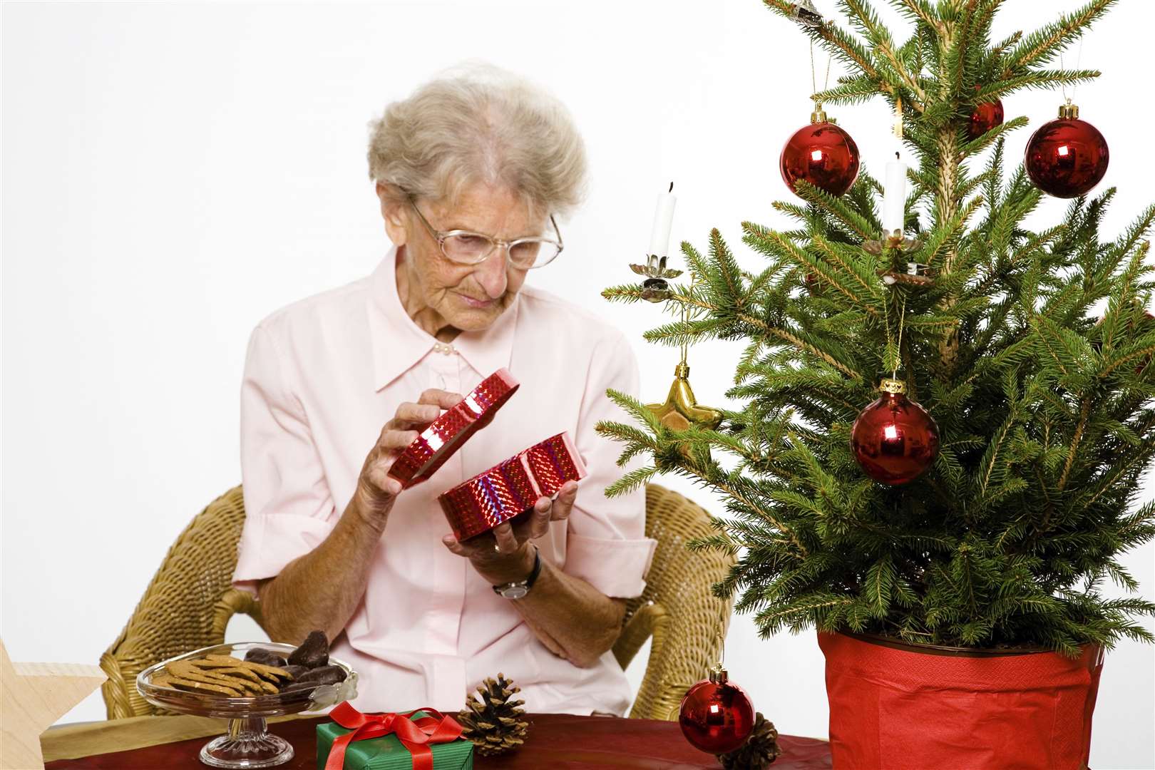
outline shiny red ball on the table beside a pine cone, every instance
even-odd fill
[[[725,670],[713,671],[681,698],[678,724],[694,748],[726,754],[750,738],[754,707],[746,691],[729,681]]]

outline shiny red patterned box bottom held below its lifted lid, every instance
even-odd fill
[[[438,498],[459,540],[476,537],[552,496],[566,481],[586,477],[586,465],[568,433],[523,449]]]

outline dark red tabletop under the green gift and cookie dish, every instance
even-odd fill
[[[163,717],[158,717],[163,718]],[[281,735],[296,750],[291,762],[280,765],[284,770],[315,770],[316,723],[325,717],[292,719],[269,725],[269,731]],[[681,737],[678,724],[651,719],[617,719],[612,717],[575,717],[561,713],[529,715],[529,738],[517,752],[497,756],[477,756],[477,770],[595,770],[597,768],[636,770],[716,770],[718,761],[699,752]],[[222,730],[224,722],[221,723]],[[163,743],[131,752],[98,754],[80,760],[49,762],[45,770],[66,768],[107,768],[109,770],[178,770],[204,768],[196,758],[209,739]],[[778,745],[782,756],[773,770],[827,770],[830,764],[829,745],[813,738],[782,735]]]

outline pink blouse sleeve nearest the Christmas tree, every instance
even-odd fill
[[[636,396],[638,380],[638,359],[624,336],[617,334],[595,349],[575,436],[589,474],[581,481],[566,537],[565,571],[620,598],[641,595],[657,541],[646,537],[644,488],[605,496],[608,486],[641,462],[619,468],[621,447],[598,435],[594,426],[599,420],[629,421],[605,390]]]

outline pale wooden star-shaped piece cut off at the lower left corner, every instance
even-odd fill
[[[17,663],[0,641],[0,770],[43,770],[40,733],[105,680],[98,666]]]

